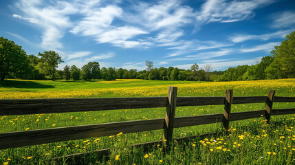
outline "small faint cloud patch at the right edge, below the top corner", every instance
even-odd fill
[[[285,11],[273,14],[272,28],[289,28],[295,25],[295,12]]]

